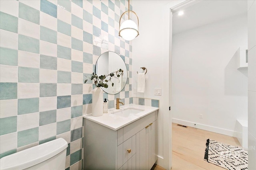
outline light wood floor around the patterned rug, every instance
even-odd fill
[[[241,146],[235,137],[172,124],[172,170],[225,170],[204,160],[207,139]],[[163,170],[153,166],[151,170]]]

